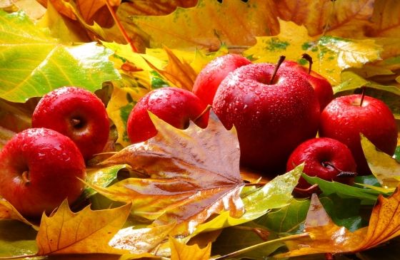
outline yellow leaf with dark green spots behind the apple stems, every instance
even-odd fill
[[[280,25],[279,35],[257,38],[256,45],[244,51],[244,55],[256,58],[257,62],[271,63],[284,55],[288,60],[304,63],[300,58],[301,53],[306,52],[313,58],[313,70],[334,85],[340,83],[340,73],[345,68],[359,68],[379,58],[381,47],[373,39],[311,37],[304,26],[290,21],[280,21]]]

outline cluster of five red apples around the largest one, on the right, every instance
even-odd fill
[[[351,184],[357,173],[371,174],[360,133],[394,154],[394,115],[376,98],[334,98],[329,80],[312,71],[311,62],[307,69],[294,61],[251,63],[229,54],[199,73],[193,91],[204,103],[212,100],[227,129],[236,128],[241,165],[277,175],[305,162],[307,175]],[[309,187],[301,178],[298,188]]]

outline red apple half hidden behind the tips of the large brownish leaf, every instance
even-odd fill
[[[158,88],[144,95],[129,114],[126,131],[132,143],[143,142],[157,133],[148,110],[179,129],[187,128],[190,120],[196,119],[199,127],[206,128],[209,118],[208,113],[201,115],[206,105],[189,90]]]

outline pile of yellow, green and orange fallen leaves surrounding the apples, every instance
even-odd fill
[[[321,194],[295,199],[302,166],[271,180],[240,169],[236,132],[214,115],[186,130],[152,116],[159,133],[135,145],[126,120],[145,93],[191,90],[229,52],[300,63],[309,53],[335,95],[366,86],[399,120],[399,1],[15,0],[0,9],[0,148],[63,85],[96,92],[114,123],[71,209],[64,202],[33,222],[0,198],[0,257],[388,259],[398,250],[399,148],[390,157],[363,138],[374,175],[354,186],[303,175]]]

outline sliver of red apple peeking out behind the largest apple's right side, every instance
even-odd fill
[[[309,73],[309,68],[301,66],[295,61],[284,61],[284,63],[282,63],[282,67],[294,69],[309,81],[315,90],[316,96],[318,97],[321,111],[324,110],[326,105],[328,105],[332,99],[334,99],[334,91],[332,90],[331,83],[329,83],[326,78],[319,75],[319,73],[316,73],[315,71],[310,71]]]

